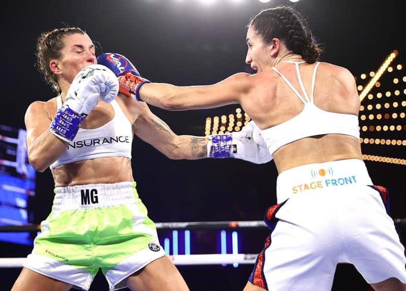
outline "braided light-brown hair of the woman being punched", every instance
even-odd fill
[[[58,59],[60,52],[63,49],[63,38],[70,34],[86,34],[85,31],[79,27],[65,27],[55,28],[51,31],[41,33],[37,39],[36,50],[36,67],[38,71],[44,76],[47,82],[57,93],[60,93],[58,80],[49,67],[49,62],[52,59]]]

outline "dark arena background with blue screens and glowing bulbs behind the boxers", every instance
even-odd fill
[[[324,45],[321,60],[348,68],[356,78],[364,160],[374,184],[389,189],[390,215],[406,241],[406,50],[401,1],[10,1],[1,12],[0,225],[28,226],[31,232],[0,233],[0,256],[26,257],[36,235],[32,226],[46,218],[52,205],[50,170],[36,173],[24,153],[26,108],[35,100],[54,97],[33,65],[41,32],[79,26],[97,44],[97,53],[126,56],[152,82],[205,85],[235,72],[252,72],[245,64],[246,25],[260,10],[278,5],[294,6],[306,16],[318,43]],[[178,134],[238,131],[250,120],[239,105],[185,112],[151,106],[151,110]],[[267,206],[276,203],[277,171],[272,161],[263,165],[233,159],[175,161],[135,137],[132,166],[140,197],[158,223],[258,222]],[[242,228],[227,223],[189,226],[164,224],[158,229],[168,254],[256,254],[268,233],[260,223]],[[242,290],[252,264],[178,268],[191,290]],[[2,268],[0,289],[9,290],[20,271]],[[340,264],[332,289],[370,287],[352,265]],[[108,290],[100,272],[90,290]]]

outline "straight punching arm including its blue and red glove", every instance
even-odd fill
[[[166,110],[212,108],[241,103],[252,89],[250,74],[238,73],[207,86],[174,86],[151,83],[122,55],[106,53],[97,62],[109,67],[118,77],[120,92]]]

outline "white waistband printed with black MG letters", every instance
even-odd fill
[[[135,182],[56,187],[53,210],[109,207],[138,198]]]

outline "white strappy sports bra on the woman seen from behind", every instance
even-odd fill
[[[297,79],[299,80],[300,88],[303,96],[292,86],[285,76],[276,68],[272,67],[293,90],[293,92],[303,102],[303,110],[293,117],[276,126],[261,130],[261,135],[266,142],[269,153],[272,155],[276,150],[283,147],[292,141],[321,134],[339,133],[354,136],[359,139],[358,116],[352,114],[342,114],[328,112],[320,109],[314,104],[314,85],[316,79],[316,71],[319,62],[316,63],[313,70],[312,91],[310,99],[304,90],[303,82],[300,77],[299,64],[304,62],[291,62],[296,67]]]

